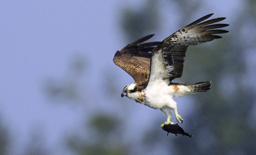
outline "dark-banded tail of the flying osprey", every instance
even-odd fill
[[[199,93],[199,92],[206,92],[207,90],[211,89],[211,81],[206,82],[198,82],[196,84],[187,85],[186,87],[191,90],[191,94]]]

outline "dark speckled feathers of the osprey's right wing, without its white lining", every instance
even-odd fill
[[[225,18],[215,18],[202,22],[212,16],[208,14],[195,22],[192,22],[188,26],[176,31],[166,39],[164,39],[152,52],[157,54],[159,50],[162,50],[162,57],[169,66],[174,66],[174,70],[170,71],[170,74],[166,77],[170,79],[170,82],[174,78],[180,78],[183,71],[183,63],[186,57],[186,50],[189,45],[197,45],[214,39],[222,38],[219,33],[227,33],[228,31],[222,29],[216,29],[226,27],[228,24],[214,24],[220,22]],[[202,23],[200,23],[202,22]],[[213,24],[213,25],[208,25]],[[190,31],[192,30],[193,31]],[[188,33],[189,32],[189,33]]]

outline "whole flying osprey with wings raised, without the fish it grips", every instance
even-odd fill
[[[197,45],[222,38],[219,33],[228,31],[217,29],[228,24],[214,24],[226,18],[207,20],[213,14],[208,14],[188,26],[176,31],[162,42],[142,43],[154,34],[142,37],[114,55],[114,63],[126,71],[135,83],[124,87],[121,97],[128,97],[150,108],[160,109],[167,115],[165,124],[170,122],[171,110],[174,110],[176,120],[183,122],[178,114],[177,103],[173,97],[206,92],[211,88],[211,82],[196,84],[174,83],[174,78],[180,78],[183,71],[184,58],[189,45]],[[203,22],[204,21],[204,22]]]

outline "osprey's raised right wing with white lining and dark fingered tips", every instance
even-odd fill
[[[214,24],[225,18],[215,18],[202,22],[210,16],[212,14],[208,14],[176,31],[164,39],[152,51],[149,82],[154,82],[158,79],[167,80],[166,82],[170,80],[171,82],[174,78],[181,77],[186,50],[189,45],[197,45],[222,38],[215,34],[228,32],[226,30],[216,29],[226,27],[228,24]]]

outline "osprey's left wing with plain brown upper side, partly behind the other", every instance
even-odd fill
[[[114,63],[132,76],[137,84],[146,83],[149,79],[151,51],[160,42],[142,42],[150,39],[153,35],[147,35],[128,44],[117,51],[113,58]]]

